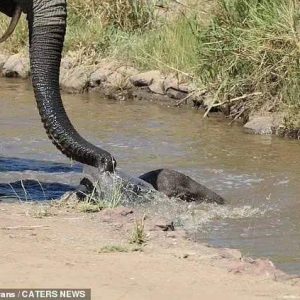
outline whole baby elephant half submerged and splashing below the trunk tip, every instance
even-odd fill
[[[99,174],[97,168],[85,166],[85,177],[81,180],[77,195],[82,196],[95,192],[99,188],[100,192],[105,190],[105,187],[113,185],[113,182],[122,183],[123,192],[129,195],[138,195],[143,198],[143,195],[148,195],[148,192],[159,191],[167,197],[175,197],[187,202],[209,202],[224,204],[224,199],[211,191],[207,187],[196,182],[189,176],[169,169],[159,169],[145,173],[139,177],[132,177],[122,171],[115,171],[114,174],[102,173]],[[96,187],[92,182],[96,182]],[[80,196],[81,195],[81,196]],[[145,198],[146,199],[146,198]]]

